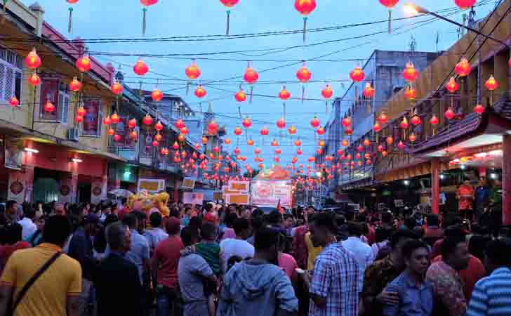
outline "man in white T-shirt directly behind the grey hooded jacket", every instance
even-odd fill
[[[254,247],[245,239],[250,235],[250,225],[245,218],[237,218],[232,223],[236,233],[236,239],[227,238],[220,242],[220,260],[223,271],[227,271],[227,262],[232,256],[239,256],[241,259],[253,258]]]

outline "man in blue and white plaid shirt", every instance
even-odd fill
[[[310,281],[309,316],[358,316],[361,285],[357,259],[336,240],[333,214],[320,213],[310,224],[314,246],[323,246]]]

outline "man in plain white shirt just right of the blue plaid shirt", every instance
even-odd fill
[[[366,268],[373,263],[373,251],[371,250],[371,246],[362,242],[360,239],[361,236],[361,224],[355,222],[349,222],[347,224],[348,232],[350,233],[350,237],[348,237],[345,241],[343,241],[343,247],[350,251],[350,253],[357,259],[357,263],[359,265],[359,289],[362,289],[364,282],[364,272]]]

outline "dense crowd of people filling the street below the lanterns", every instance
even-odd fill
[[[511,315],[510,230],[459,215],[8,201],[0,316]]]

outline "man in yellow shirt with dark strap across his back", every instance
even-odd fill
[[[12,301],[29,279],[58,251],[71,233],[65,216],[52,216],[44,227],[44,243],[15,251],[0,278],[0,316],[6,316]],[[81,292],[78,261],[62,254],[32,284],[15,308],[14,316],[77,316]]]

